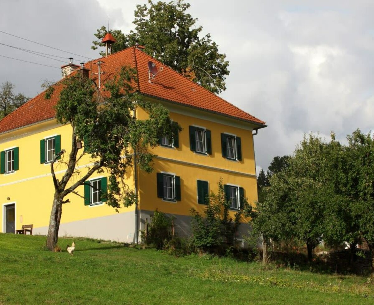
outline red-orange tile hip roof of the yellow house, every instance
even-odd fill
[[[105,74],[101,75],[101,83],[117,74],[121,66],[131,65],[137,68],[138,89],[142,94],[193,108],[204,109],[209,112],[252,122],[259,125],[259,127],[265,127],[264,121],[221,99],[135,47],[129,47],[108,57],[102,57],[100,60],[104,62],[101,64],[101,71],[105,72]],[[93,60],[85,64],[85,68],[91,70],[89,77],[96,83],[98,81],[98,76],[97,74],[95,75],[98,72],[98,66],[95,64],[97,61]],[[151,80],[151,83],[148,82],[148,61],[154,62],[159,69],[163,67],[163,71],[159,71],[157,76]],[[40,93],[7,115],[0,121],[0,133],[53,118],[55,115],[53,106],[58,101],[61,89],[61,83],[57,83],[51,99],[46,100],[45,93]]]

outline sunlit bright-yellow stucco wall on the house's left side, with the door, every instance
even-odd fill
[[[61,179],[66,168],[62,161],[67,161],[71,148],[70,125],[57,125],[53,120],[0,135],[0,151],[13,146],[19,147],[19,170],[0,175],[0,217],[1,219],[4,217],[2,208],[4,204],[15,203],[16,229],[21,228],[22,224],[33,224],[34,227],[44,227],[49,224],[54,187],[50,164],[40,164],[40,140],[58,134],[61,135],[61,149],[67,151],[64,159],[55,165],[56,177]],[[89,156],[80,160],[78,165],[82,175],[86,173],[86,166],[89,164]],[[106,175],[106,172],[94,173],[89,180]],[[134,188],[131,169],[129,176],[126,181]],[[78,177],[72,178],[70,184],[76,182]],[[76,191],[84,196],[83,186],[79,186]],[[71,193],[65,199],[70,199],[71,202],[63,205],[61,223],[116,214],[116,211],[106,204],[85,206],[84,199],[76,194]],[[134,211],[134,207],[119,210],[120,213],[129,211]]]

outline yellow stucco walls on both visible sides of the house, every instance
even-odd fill
[[[190,215],[191,208],[202,212],[205,206],[197,203],[197,180],[209,181],[209,191],[217,193],[217,182],[220,178],[223,178],[224,184],[243,187],[248,202],[254,202],[257,199],[255,160],[253,136],[248,123],[232,124],[233,119],[202,111],[196,112],[196,110],[195,112],[201,115],[194,115],[193,112],[187,110],[185,112],[186,107],[178,107],[179,110],[171,112],[170,115],[183,128],[179,134],[179,147],[156,147],[153,152],[160,158],[154,160],[154,172],[147,174],[139,171],[139,208],[150,211],[158,208],[159,211],[178,215]],[[215,119],[211,120],[210,116],[212,118],[214,116]],[[138,109],[137,117],[144,119],[147,114],[142,109]],[[198,125],[211,130],[211,155],[202,155],[190,150],[189,125]],[[221,133],[224,132],[241,138],[242,161],[230,161],[222,157]],[[15,173],[0,175],[0,217],[4,219],[3,205],[14,202],[16,204],[16,229],[21,228],[22,224],[45,227],[49,223],[54,189],[50,165],[40,164],[40,140],[58,134],[61,135],[61,148],[67,151],[65,160],[62,161],[67,161],[71,147],[70,125],[57,125],[55,120],[50,120],[0,135],[0,151],[14,146],[19,147],[19,170]],[[79,170],[82,174],[86,172],[86,166],[89,163],[88,156],[79,162]],[[63,164],[55,166],[57,178],[62,177],[64,169]],[[156,172],[161,171],[172,172],[181,177],[181,201],[166,202],[157,198]],[[106,172],[95,173],[90,179],[104,175],[107,175]],[[72,182],[74,181],[76,179]],[[126,182],[130,188],[134,189],[132,169],[129,169]],[[78,187],[77,192],[83,196],[83,186]],[[106,204],[85,206],[84,199],[75,194],[70,194],[65,199],[70,199],[71,203],[63,206],[62,224],[116,214],[116,211]],[[134,209],[135,207],[132,206],[122,208],[119,212],[131,212]],[[0,232],[2,231],[3,226],[0,228]]]

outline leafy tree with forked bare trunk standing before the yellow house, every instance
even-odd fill
[[[53,250],[58,240],[62,205],[69,202],[64,198],[74,193],[79,186],[94,172],[107,171],[110,174],[108,183],[107,204],[118,209],[121,204],[128,206],[135,202],[136,194],[130,190],[123,177],[133,164],[133,151],[140,169],[150,172],[153,155],[148,147],[157,145],[162,136],[171,136],[175,125],[169,118],[166,108],[158,104],[143,102],[132,84],[136,82],[134,69],[122,67],[120,73],[104,84],[101,94],[96,84],[82,75],[67,77],[63,80],[63,89],[56,105],[56,120],[61,124],[71,125],[71,147],[65,162],[65,150],[56,152],[50,164],[55,194],[50,214],[47,234],[47,248]],[[53,87],[52,87],[53,88]],[[53,90],[47,90],[50,96]],[[149,118],[136,119],[132,110],[142,107]],[[175,130],[174,130],[175,132]],[[77,142],[84,140],[85,149],[79,149]],[[87,172],[79,173],[78,163],[88,155],[90,164]],[[63,156],[61,161],[58,161]],[[54,166],[62,162],[67,169],[58,180]],[[89,186],[92,187],[92,186]]]

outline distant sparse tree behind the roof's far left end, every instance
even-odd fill
[[[15,111],[17,108],[26,103],[30,98],[22,93],[13,92],[14,85],[9,81],[1,84],[0,88],[0,119]]]

